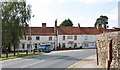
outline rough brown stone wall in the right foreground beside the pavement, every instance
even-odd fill
[[[120,69],[120,32],[103,33],[97,36],[99,65]],[[111,49],[110,49],[111,48]]]

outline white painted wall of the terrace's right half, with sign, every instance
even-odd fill
[[[65,36],[65,40],[63,40],[63,36]],[[73,36],[72,39],[67,39],[67,36]],[[84,42],[88,42],[88,48],[95,47],[95,41],[96,41],[96,35],[76,35],[77,40],[74,40],[75,35],[58,35],[58,43],[61,44],[65,43],[66,48],[69,48],[71,45],[68,44],[69,41],[73,41],[74,43],[77,43],[77,47],[83,46],[84,48]],[[74,45],[72,45],[72,48]]]

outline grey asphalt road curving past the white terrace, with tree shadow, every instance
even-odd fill
[[[67,68],[95,54],[95,49],[52,51],[44,55],[3,61],[2,68]]]

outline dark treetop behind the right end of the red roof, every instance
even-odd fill
[[[99,18],[97,18],[97,20],[96,20],[96,22],[95,22],[95,26],[96,26],[97,24],[103,25],[103,27],[104,27],[105,29],[108,28],[108,17],[101,15]]]

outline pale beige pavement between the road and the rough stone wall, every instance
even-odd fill
[[[97,65],[96,55],[93,55],[70,65],[68,68],[103,68],[103,67]]]

